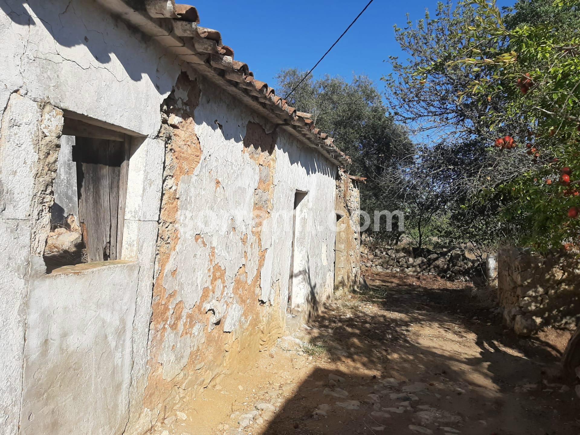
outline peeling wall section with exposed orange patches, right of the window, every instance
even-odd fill
[[[313,311],[332,296],[334,229],[320,216],[333,215],[336,168],[191,77],[180,75],[163,106],[164,199],[144,401],[160,418],[193,386],[280,336],[297,189],[310,192],[299,245],[312,285],[297,300]]]

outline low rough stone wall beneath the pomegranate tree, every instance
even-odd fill
[[[580,321],[580,263],[572,255],[535,255],[524,249],[498,252],[498,299],[503,322],[519,335]]]

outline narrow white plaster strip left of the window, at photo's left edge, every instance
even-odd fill
[[[35,102],[17,93],[9,94],[1,107],[0,237],[4,242],[0,248],[0,426],[3,433],[13,435],[20,415],[30,213],[38,160],[33,139],[41,112]]]

